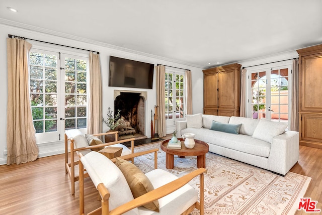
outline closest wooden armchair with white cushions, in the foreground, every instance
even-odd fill
[[[87,171],[98,189],[102,206],[88,214],[189,214],[194,208],[204,214],[204,175],[207,170],[199,168],[181,178],[166,170],[157,169],[158,149],[138,152],[119,158],[129,159],[154,152],[154,170],[145,175],[153,184],[154,189],[134,198],[123,173],[113,163],[116,159],[106,159],[97,152],[85,156],[79,153],[79,214],[84,214],[84,171]],[[118,161],[119,162],[119,161]],[[100,165],[97,165],[100,163]],[[200,177],[200,202],[198,192],[188,182]],[[158,199],[159,212],[146,209],[142,205]]]

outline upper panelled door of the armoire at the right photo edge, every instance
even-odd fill
[[[322,112],[322,56],[301,58],[300,111]]]

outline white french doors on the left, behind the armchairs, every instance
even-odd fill
[[[31,49],[29,70],[36,142],[63,140],[65,129],[85,130],[88,59]]]

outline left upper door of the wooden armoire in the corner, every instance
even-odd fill
[[[218,73],[204,74],[204,107],[218,107]]]

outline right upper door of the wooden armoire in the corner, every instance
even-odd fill
[[[233,109],[235,104],[235,75],[234,70],[226,70],[218,74],[218,107]]]

